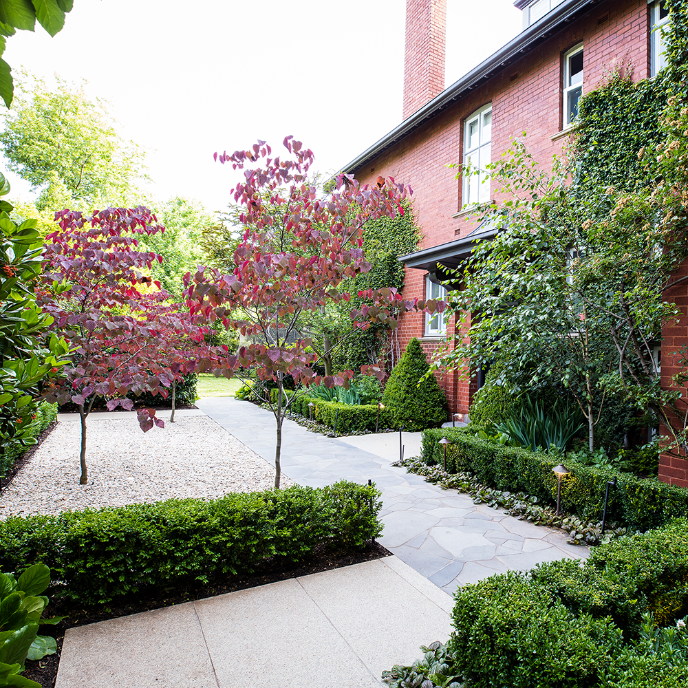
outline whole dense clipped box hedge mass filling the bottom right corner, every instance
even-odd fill
[[[681,685],[685,666],[634,642],[643,614],[661,625],[688,611],[687,581],[688,521],[677,519],[594,548],[582,566],[564,559],[465,585],[452,614],[454,668],[475,688]]]

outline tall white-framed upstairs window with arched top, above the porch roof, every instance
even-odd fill
[[[464,206],[490,200],[490,176],[486,166],[492,156],[492,105],[486,105],[464,120]]]

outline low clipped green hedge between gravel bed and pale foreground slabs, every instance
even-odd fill
[[[319,545],[360,548],[382,532],[379,497],[374,487],[341,481],[10,517],[0,522],[0,569],[42,561],[70,599],[103,603],[151,585],[251,573],[271,557],[301,561]]]

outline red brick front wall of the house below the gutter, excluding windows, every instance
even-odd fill
[[[411,3],[413,0],[409,0]],[[464,118],[492,103],[492,160],[508,149],[511,137],[519,137],[526,131],[530,153],[544,169],[550,169],[552,155],[561,153],[562,144],[568,139],[566,136],[551,138],[561,130],[563,53],[583,42],[583,93],[593,90],[614,69],[632,68],[634,80],[646,78],[649,74],[648,17],[646,0],[608,0],[594,6],[537,50],[506,67],[502,74],[486,81],[425,127],[358,169],[356,177],[361,182],[373,182],[378,175],[391,175],[411,184],[415,191],[413,209],[424,237],[420,248],[466,236],[475,228],[475,219],[456,216],[462,206],[461,183],[455,179],[455,171],[447,168],[447,164],[462,160]],[[495,189],[492,191],[497,202],[502,200]],[[422,270],[407,268],[404,289],[407,298],[424,296],[424,277]],[[453,323],[450,324],[451,333]],[[411,337],[422,338],[423,334],[422,314],[402,316],[399,330],[402,349]],[[424,347],[431,353],[436,343],[427,341]],[[451,374],[443,384],[451,411],[468,411],[475,383],[462,380],[461,374]]]

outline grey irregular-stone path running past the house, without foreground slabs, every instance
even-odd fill
[[[275,461],[275,418],[245,401],[228,397],[196,402],[233,436],[271,464]],[[405,455],[420,454],[420,433],[403,433]],[[534,526],[468,495],[427,483],[395,468],[398,433],[326,438],[286,420],[282,472],[303,485],[322,487],[345,478],[372,480],[383,493],[380,542],[397,557],[453,594],[495,572],[528,570],[541,561],[588,556],[588,548],[566,544],[561,530]]]

